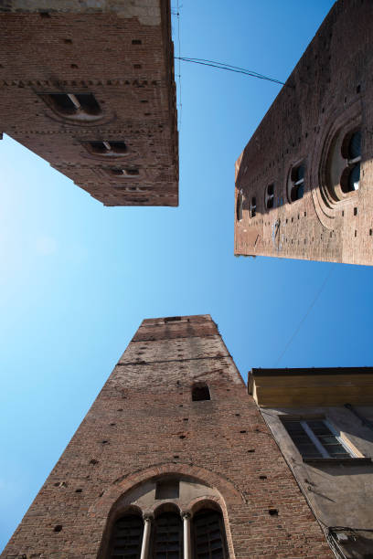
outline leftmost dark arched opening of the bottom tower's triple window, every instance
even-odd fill
[[[108,559],[139,559],[143,543],[144,522],[140,516],[127,514],[112,528]]]

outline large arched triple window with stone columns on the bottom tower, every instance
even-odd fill
[[[228,559],[221,500],[188,476],[144,481],[115,503],[98,559]]]

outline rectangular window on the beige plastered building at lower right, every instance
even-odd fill
[[[344,459],[354,456],[325,419],[286,420],[283,425],[304,459]]]

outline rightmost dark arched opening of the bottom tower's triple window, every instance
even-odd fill
[[[192,519],[193,557],[228,559],[227,539],[221,512],[202,509]]]

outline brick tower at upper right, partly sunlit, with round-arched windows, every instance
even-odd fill
[[[373,263],[372,51],[372,2],[336,2],[236,163],[236,255]]]

